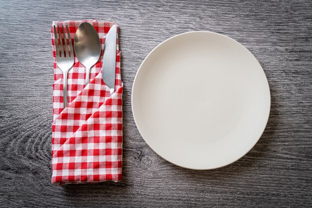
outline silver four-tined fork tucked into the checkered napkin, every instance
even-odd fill
[[[63,28],[64,43],[65,43],[65,55],[64,55],[64,46],[63,46],[60,27],[58,27],[58,36],[59,36],[59,41],[60,41],[60,44],[59,44],[58,38],[57,38],[56,27],[55,25],[53,26],[55,51],[56,51],[56,63],[57,63],[58,68],[60,68],[63,72],[63,108],[65,108],[67,105],[67,74],[69,70],[71,70],[71,68],[73,68],[74,66],[75,55],[74,55],[73,44],[70,38],[68,26],[66,25],[67,38],[65,36],[64,26],[62,26],[62,28]],[[68,50],[68,45],[67,45],[67,39],[69,42],[68,44],[69,50]]]

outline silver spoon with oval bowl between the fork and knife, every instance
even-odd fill
[[[101,55],[101,42],[97,31],[88,22],[82,22],[75,34],[75,53],[78,61],[86,67],[86,85],[89,83],[90,68]]]

